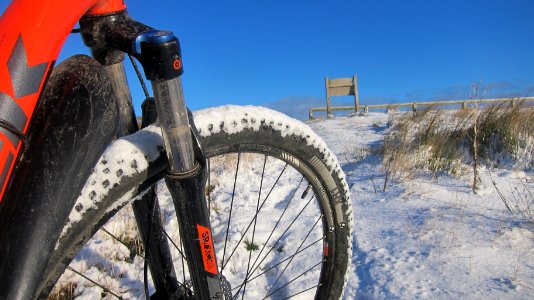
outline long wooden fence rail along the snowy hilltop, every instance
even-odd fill
[[[365,112],[368,112],[369,109],[397,109],[400,107],[411,107],[412,110],[416,110],[420,106],[446,106],[446,105],[462,105],[462,108],[465,109],[469,104],[476,103],[510,103],[514,106],[518,102],[522,101],[534,101],[534,97],[519,97],[519,98],[492,98],[492,99],[478,99],[478,100],[452,100],[452,101],[433,101],[433,102],[410,102],[410,103],[391,103],[391,104],[373,104],[373,105],[360,105],[360,108],[363,108]],[[332,106],[330,107],[331,111],[342,111],[342,110],[355,110],[354,106]],[[309,111],[309,118],[314,119],[315,112],[326,112],[326,107],[312,107]]]

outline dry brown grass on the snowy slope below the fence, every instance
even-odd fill
[[[477,154],[484,164],[534,167],[534,107],[518,103],[456,112],[429,107],[391,122],[383,145],[384,189],[389,179],[408,177],[418,169],[433,176],[466,172],[473,161],[475,120]]]

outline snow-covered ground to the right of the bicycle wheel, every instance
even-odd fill
[[[351,187],[354,252],[345,298],[533,299],[532,224],[508,212],[492,183],[509,202],[532,203],[533,172],[481,169],[477,195],[469,172],[437,179],[420,172],[382,192],[381,159],[362,149],[382,143],[387,122],[387,114],[371,113],[310,124]]]

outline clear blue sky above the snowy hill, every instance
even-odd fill
[[[180,38],[192,109],[293,114],[324,103],[325,75],[355,73],[363,104],[466,98],[479,81],[486,97],[534,95],[531,0],[126,2],[134,18]],[[60,59],[83,51],[73,36]]]

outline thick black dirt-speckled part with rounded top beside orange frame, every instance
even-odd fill
[[[37,297],[50,253],[117,127],[103,66],[78,55],[54,69],[0,208],[0,299]]]

